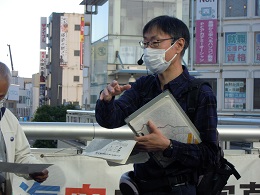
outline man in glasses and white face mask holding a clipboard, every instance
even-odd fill
[[[96,120],[105,128],[125,125],[124,119],[138,108],[169,90],[187,113],[187,99],[182,92],[194,79],[181,64],[189,46],[190,34],[179,19],[158,16],[143,28],[144,63],[153,75],[142,76],[135,83],[120,86],[111,82],[100,93],[96,104]],[[124,93],[123,93],[124,92]],[[115,99],[116,95],[119,95]],[[162,151],[174,159],[167,167],[159,166],[153,158],[134,164],[134,180],[142,195],[195,195],[197,170],[217,162],[217,102],[212,89],[203,85],[192,121],[200,132],[200,144],[184,144],[165,137],[153,121],[147,121],[150,134],[136,137],[136,151]]]

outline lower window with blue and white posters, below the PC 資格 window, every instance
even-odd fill
[[[246,79],[225,79],[225,109],[246,108]]]

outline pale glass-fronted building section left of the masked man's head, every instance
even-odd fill
[[[93,3],[93,1],[83,1]],[[95,1],[99,3],[100,1]],[[90,108],[94,109],[100,91],[112,80],[120,84],[151,74],[137,61],[143,51],[139,46],[142,28],[158,15],[174,15],[189,25],[189,1],[102,1],[91,15]],[[87,5],[89,6],[89,5]],[[85,9],[86,10],[86,9]],[[102,33],[100,31],[102,30]],[[187,55],[184,59],[187,61]]]

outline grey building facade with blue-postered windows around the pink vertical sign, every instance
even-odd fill
[[[198,2],[202,4],[198,9]],[[193,69],[213,85],[219,112],[260,111],[259,0],[211,1],[217,5],[216,61],[201,63],[194,47]],[[194,9],[202,12],[204,1]],[[212,11],[212,10],[211,10]],[[213,13],[214,14],[214,13]],[[198,17],[196,17],[198,18]],[[196,24],[197,21],[195,22]],[[195,25],[194,45],[200,44]],[[196,30],[197,29],[197,30]],[[209,33],[208,33],[209,34]],[[208,38],[209,39],[209,38]],[[207,49],[210,49],[209,47]]]

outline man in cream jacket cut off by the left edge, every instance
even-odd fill
[[[3,107],[5,96],[11,82],[8,67],[0,62],[0,161],[15,163],[41,163],[30,151],[28,140],[17,120],[10,110]],[[19,174],[25,179],[43,182],[48,178],[47,169],[29,175]],[[0,195],[12,194],[13,174],[0,172]]]

